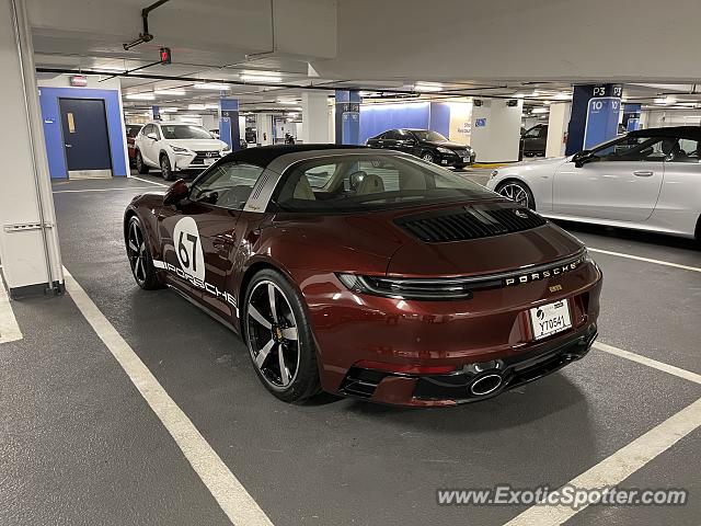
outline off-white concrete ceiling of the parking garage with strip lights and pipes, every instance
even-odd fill
[[[139,71],[159,79],[123,77],[125,94],[181,89],[184,95],[157,101],[186,107],[220,96],[193,89],[192,79],[241,82],[242,75],[275,72],[285,85],[251,82],[227,91],[252,111],[289,110],[306,88],[406,96],[421,81],[441,84],[440,93],[424,98],[518,95],[529,106],[594,79],[628,80],[631,102],[653,104],[664,95],[667,107],[688,108],[701,95],[682,81],[701,77],[701,66],[670,49],[699,44],[696,27],[685,27],[701,19],[701,2],[679,2],[683,9],[660,12],[657,0],[591,0],[578,12],[559,0],[171,0],[149,16],[154,39],[125,50],[150,2],[26,0],[38,68],[123,72],[154,61],[168,46],[173,64]],[[646,10],[647,3],[657,8]],[[621,35],[622,22],[634,31]],[[319,76],[309,75],[310,65]],[[126,107],[147,104],[125,101]]]

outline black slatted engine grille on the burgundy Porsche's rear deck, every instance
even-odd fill
[[[445,243],[519,232],[548,221],[528,208],[461,206],[401,217],[394,222],[424,242]]]

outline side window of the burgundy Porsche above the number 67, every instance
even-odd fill
[[[240,210],[249,201],[253,185],[261,173],[263,169],[253,164],[237,162],[220,164],[193,186],[191,198]]]

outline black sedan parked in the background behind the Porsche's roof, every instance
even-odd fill
[[[371,148],[404,151],[441,167],[463,168],[474,163],[475,157],[474,150],[469,146],[451,142],[429,129],[389,129],[370,137],[367,145]]]

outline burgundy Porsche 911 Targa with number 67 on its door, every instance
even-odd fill
[[[137,196],[134,276],[240,333],[263,385],[450,405],[582,358],[601,272],[535,211],[415,157],[299,145],[231,153]]]

